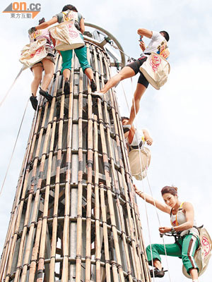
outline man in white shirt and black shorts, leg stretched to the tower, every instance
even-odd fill
[[[146,91],[146,88],[148,87],[148,80],[146,80],[143,73],[139,71],[139,68],[147,60],[151,52],[157,53],[158,51],[160,51],[160,47],[164,44],[164,42],[168,42],[170,39],[166,31],[155,32],[151,30],[146,30],[144,28],[139,28],[137,32],[140,35],[139,46],[141,47],[143,54],[141,54],[141,57],[136,61],[124,66],[124,68],[122,68],[122,70],[119,73],[117,73],[117,75],[114,75],[112,78],[110,78],[110,80],[108,80],[107,84],[102,88],[102,90],[98,92],[100,95],[103,95],[108,90],[110,90],[110,88],[117,85],[117,83],[119,83],[121,80],[124,80],[125,78],[131,78],[137,73],[140,73],[136,91],[134,92],[136,114],[139,111],[139,102],[141,100],[141,97],[143,96],[143,93]],[[141,40],[143,36],[151,38],[151,42],[149,42],[148,47],[145,47],[143,40]],[[134,111],[134,102],[133,102],[133,105],[131,106],[129,121],[128,121],[129,125],[133,123],[136,114]]]

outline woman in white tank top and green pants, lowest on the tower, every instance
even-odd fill
[[[194,220],[194,208],[189,202],[180,202],[177,195],[177,188],[171,186],[165,186],[161,190],[163,202],[154,200],[153,197],[141,192],[134,185],[135,192],[149,204],[155,205],[162,212],[170,214],[170,220],[172,227],[160,226],[159,232],[161,234],[172,232],[179,235],[179,239],[174,244],[153,244],[146,247],[146,254],[148,258],[148,264],[155,266],[154,270],[151,270],[151,277],[153,277],[153,271],[155,277],[163,277],[164,272],[161,266],[160,255],[167,255],[172,257],[181,257],[187,273],[192,276],[192,281],[198,281],[199,269],[196,266],[194,260],[194,253],[199,247],[199,230],[196,228],[196,221]]]

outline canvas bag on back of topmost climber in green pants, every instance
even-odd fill
[[[51,36],[56,40],[55,49],[66,51],[83,47],[85,42],[81,38],[81,35],[74,24],[75,19],[77,18],[77,13],[75,11],[70,11],[67,14],[64,13],[63,16],[63,23],[59,23],[59,25],[49,29]]]

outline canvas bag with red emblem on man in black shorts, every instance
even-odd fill
[[[151,53],[148,59],[140,66],[140,71],[148,82],[159,90],[167,82],[170,64],[160,54]]]

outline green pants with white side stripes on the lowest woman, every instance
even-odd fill
[[[146,255],[148,264],[152,265],[152,259],[158,259],[161,262],[160,255],[165,255],[165,250],[168,256],[182,258],[182,263],[189,273],[190,269],[198,269],[194,260],[194,254],[199,247],[199,238],[192,234],[184,235],[177,240],[175,244],[152,244],[146,247]]]

